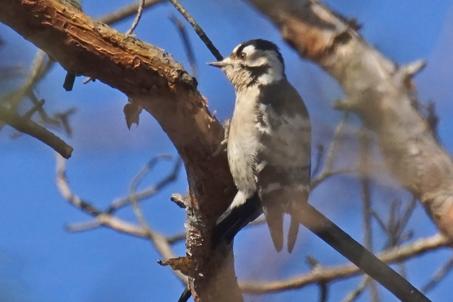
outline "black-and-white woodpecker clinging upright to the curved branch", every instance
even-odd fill
[[[282,55],[270,41],[244,42],[227,58],[208,64],[221,68],[236,91],[227,154],[238,193],[217,220],[213,244],[220,239],[230,241],[264,212],[280,252],[283,217],[294,200],[291,197],[298,202],[308,200],[311,127],[307,108],[286,79]],[[289,253],[298,229],[299,222],[291,219]]]

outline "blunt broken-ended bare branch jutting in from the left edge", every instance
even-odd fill
[[[44,144],[57,151],[64,158],[71,157],[73,150],[71,146],[46,128],[31,121],[29,118],[21,117],[4,107],[0,107],[0,121],[5,122],[19,132],[27,133],[28,135],[39,139]]]

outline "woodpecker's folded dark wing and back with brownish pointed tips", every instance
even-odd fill
[[[277,251],[283,246],[283,216],[290,202],[307,202],[310,183],[311,126],[307,108],[286,79],[262,89],[257,127],[258,193]],[[290,213],[289,213],[290,214]],[[288,251],[294,248],[299,223],[291,219]]]

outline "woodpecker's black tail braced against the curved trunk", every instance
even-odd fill
[[[231,213],[219,222],[212,230],[212,248],[220,242],[229,244],[234,236],[249,222],[255,220],[263,213],[258,193],[255,193],[243,205],[231,209]]]

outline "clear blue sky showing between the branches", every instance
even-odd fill
[[[85,12],[92,17],[104,15],[126,0],[84,0]],[[104,5],[105,4],[105,5]],[[279,44],[287,62],[289,81],[299,90],[313,120],[313,143],[327,143],[341,113],[330,104],[341,97],[338,85],[316,65],[301,61],[281,42],[278,32],[266,19],[241,1],[183,1],[187,10],[203,27],[223,55],[239,43],[264,38]],[[443,145],[453,151],[450,132],[453,113],[453,5],[448,0],[330,0],[334,10],[357,18],[363,25],[361,34],[399,64],[418,58],[428,66],[416,77],[422,101],[436,102],[440,117],[439,133]],[[135,33],[137,38],[165,49],[188,68],[183,46],[168,15],[177,11],[169,4],[157,5],[143,15]],[[116,25],[125,32],[132,22],[127,19]],[[225,76],[204,63],[212,55],[188,28],[198,63],[199,90],[209,100],[209,108],[219,119],[228,118],[233,110],[234,92]],[[28,67],[35,48],[11,29],[0,25],[0,36],[6,41],[0,49],[1,65],[20,63]],[[74,147],[67,162],[67,176],[72,190],[82,198],[104,209],[116,197],[127,194],[132,177],[153,156],[169,153],[176,156],[171,142],[155,120],[146,112],[140,126],[126,127],[124,94],[99,81],[83,85],[77,78],[74,90],[62,88],[64,70],[56,65],[35,92],[46,100],[48,112],[77,107],[72,117],[74,130],[67,141]],[[12,87],[17,83],[11,82]],[[357,125],[357,119],[352,124]],[[351,136],[354,127],[348,128]],[[182,285],[168,268],[161,268],[159,255],[143,239],[118,234],[110,229],[68,234],[63,226],[88,221],[90,218],[74,209],[59,195],[54,184],[53,151],[28,136],[11,140],[10,128],[0,132],[0,300],[8,302],[153,302],[176,301]],[[355,158],[357,143],[342,148],[340,164]],[[354,151],[354,152],[351,152]],[[378,154],[378,152],[376,152]],[[379,156],[376,155],[376,161]],[[159,175],[171,168],[162,163],[147,176],[141,187],[153,184]],[[187,190],[185,172],[178,180],[143,204],[149,224],[164,234],[183,231],[185,213],[170,200],[174,192]],[[373,181],[372,197],[376,210],[386,213],[395,196],[408,201],[410,196],[399,190],[387,175]],[[329,180],[310,197],[310,202],[333,219],[355,239],[361,240],[360,192],[351,177]],[[119,216],[135,222],[130,209]],[[415,237],[429,236],[436,229],[420,206],[410,221]],[[376,233],[375,245],[384,243]],[[175,246],[175,253],[184,254],[184,245]],[[276,253],[266,227],[247,229],[235,241],[236,271],[239,279],[272,280],[304,272],[305,255],[311,254],[323,265],[343,263],[332,248],[308,234],[299,234],[295,251]],[[436,268],[450,256],[441,250],[408,262],[407,271],[415,286],[423,285]],[[270,265],[270,263],[272,263]],[[340,301],[355,288],[358,279],[333,283],[329,301]],[[434,302],[447,302],[453,294],[446,278],[429,297]],[[317,300],[317,287],[307,287],[269,296],[246,296],[246,301],[309,301]],[[396,301],[381,290],[386,301]],[[359,300],[367,301],[363,295]]]

